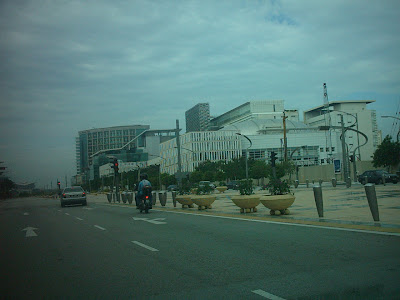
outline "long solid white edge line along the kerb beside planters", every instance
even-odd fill
[[[242,219],[242,218],[236,218],[236,217],[214,216],[214,215],[203,215],[203,214],[200,215],[200,214],[186,213],[186,212],[180,212],[180,211],[159,210],[159,209],[154,209],[154,208],[153,208],[153,210],[154,211],[168,212],[168,213],[173,213],[173,214],[184,214],[184,215],[199,216],[199,217],[211,217],[211,218],[231,219],[231,220],[240,220],[240,221],[248,221],[248,222],[269,223],[269,224],[277,224],[277,225],[300,226],[300,227],[310,227],[310,228],[318,228],[318,229],[329,229],[329,230],[351,231],[351,232],[359,232],[359,233],[372,233],[372,234],[380,234],[380,235],[400,236],[400,233],[396,233],[396,232],[371,231],[371,230],[362,230],[362,229],[351,229],[351,228],[342,228],[342,227],[328,227],[328,226],[318,226],[318,225],[298,224],[298,223],[286,223],[286,222],[267,221],[267,220]]]

